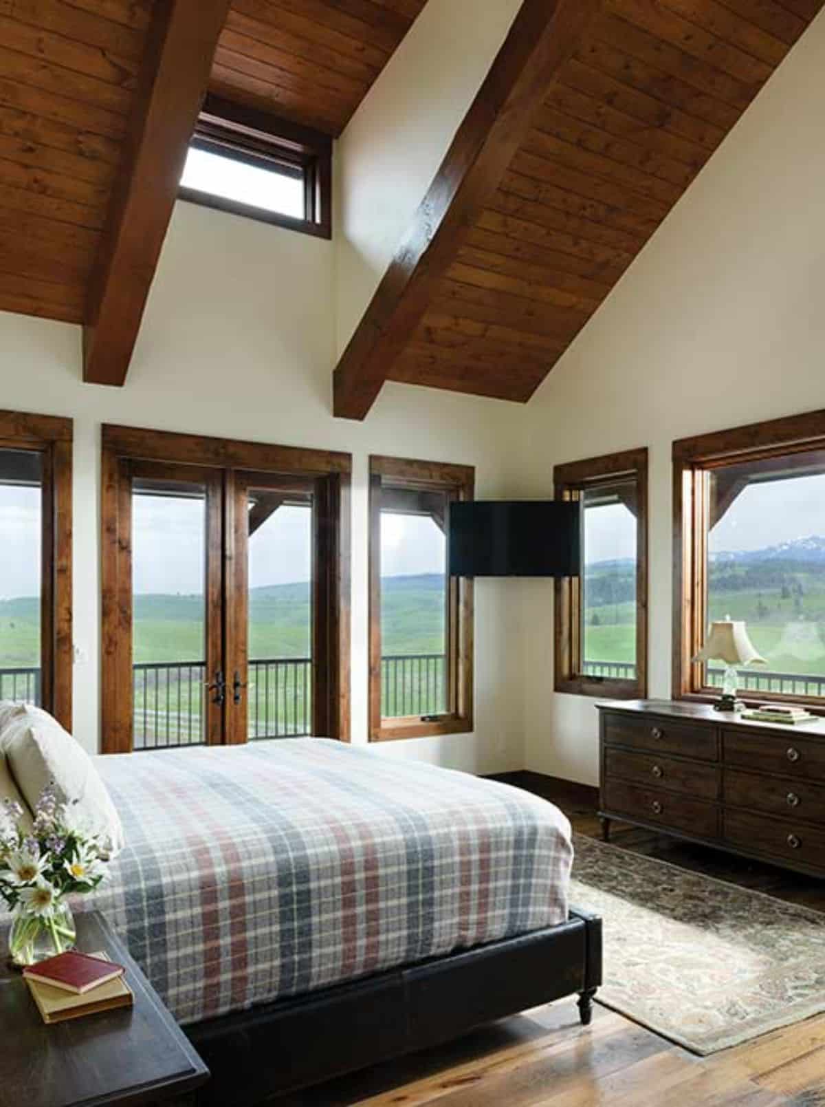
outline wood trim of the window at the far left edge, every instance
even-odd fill
[[[72,730],[72,420],[0,411],[0,446],[43,456],[41,699]]]

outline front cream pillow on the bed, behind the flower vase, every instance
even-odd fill
[[[123,826],[92,759],[60,723],[39,708],[17,717],[6,738],[6,756],[29,806],[34,809],[43,788],[54,783],[59,804],[76,821],[100,835],[109,857],[124,846]]]

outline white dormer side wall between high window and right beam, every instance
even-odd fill
[[[521,0],[428,0],[336,144],[338,353],[520,7]]]

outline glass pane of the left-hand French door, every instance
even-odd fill
[[[203,485],[134,482],[135,749],[205,742],[206,520]]]

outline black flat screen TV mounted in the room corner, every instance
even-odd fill
[[[576,503],[453,503],[449,518],[450,576],[576,577],[581,572]]]

